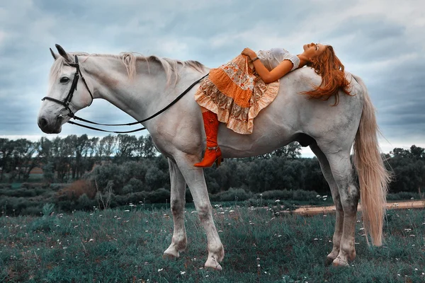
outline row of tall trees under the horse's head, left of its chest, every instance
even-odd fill
[[[137,161],[157,156],[152,139],[128,134],[108,135],[89,139],[86,134],[42,137],[38,141],[28,139],[0,139],[0,180],[23,180],[29,178],[33,168],[40,167],[48,181],[66,182],[81,178],[91,171],[95,163],[113,160],[114,163]]]

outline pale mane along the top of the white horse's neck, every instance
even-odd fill
[[[135,52],[123,52],[119,55],[116,54],[89,54],[86,52],[73,52],[69,53],[70,57],[72,57],[72,62],[74,62],[74,55],[77,55],[78,57],[84,56],[84,57],[111,57],[116,59],[121,59],[123,61],[123,64],[125,65],[125,68],[127,69],[127,74],[130,79],[134,78],[136,75],[136,64],[137,61],[145,61],[147,62],[147,68],[149,71],[149,63],[157,63],[162,66],[162,68],[165,71],[166,74],[166,81],[167,84],[171,83],[171,79],[174,77],[173,83],[176,83],[179,79],[179,66],[181,67],[190,67],[192,69],[195,69],[196,71],[199,71],[202,73],[204,71],[205,66],[201,64],[198,61],[193,60],[177,60],[177,59],[169,59],[165,57],[158,57],[155,55],[151,56],[144,56],[139,53]],[[57,77],[62,72],[62,67],[69,66],[69,63],[67,60],[64,59],[62,56],[58,56],[58,58],[55,60],[55,63],[52,65],[52,69],[50,70],[50,77]],[[84,65],[81,66],[81,68],[84,68]]]

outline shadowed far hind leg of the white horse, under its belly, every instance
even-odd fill
[[[323,151],[319,149],[317,144],[310,145],[310,149],[312,149],[313,153],[319,160],[320,168],[322,168],[324,178],[327,180],[329,188],[331,189],[332,199],[334,200],[336,208],[335,231],[334,237],[332,238],[333,247],[331,253],[327,255],[326,260],[326,264],[330,265],[339,254],[339,245],[341,243],[342,229],[344,224],[344,210],[342,209],[341,199],[339,197],[338,185],[336,185],[326,156],[324,155]]]

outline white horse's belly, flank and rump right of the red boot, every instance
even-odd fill
[[[311,68],[297,69],[280,79],[280,89],[273,103],[254,119],[252,134],[242,135],[220,125],[219,144],[225,157],[255,156],[278,149],[292,141],[304,139],[341,144],[353,143],[363,108],[361,86],[351,80],[351,95],[339,93],[339,104],[310,99],[302,95],[321,82]],[[306,139],[307,137],[307,139]],[[337,144],[339,146],[339,144]]]

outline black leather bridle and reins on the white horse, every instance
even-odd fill
[[[87,91],[89,91],[89,93],[90,93],[91,103],[93,103],[93,100],[94,100],[93,94],[91,94],[91,91],[89,89],[89,86],[87,86],[86,80],[84,79],[83,74],[81,74],[81,70],[79,68],[79,63],[78,63],[78,57],[77,57],[77,55],[75,55],[75,63],[69,64],[69,66],[77,68],[77,71],[74,74],[74,80],[72,81],[72,85],[71,85],[71,88],[69,89],[69,93],[68,93],[67,97],[62,101],[62,100],[58,100],[56,98],[50,98],[48,96],[45,96],[44,98],[42,98],[42,100],[47,99],[47,100],[54,101],[55,103],[59,103],[60,105],[64,105],[65,109],[67,109],[69,111],[69,113],[67,115],[68,117],[72,117],[75,120],[80,120],[82,122],[86,122],[86,123],[89,123],[89,124],[102,125],[102,126],[132,126],[132,125],[136,125],[136,124],[139,124],[139,123],[142,123],[142,122],[146,122],[147,120],[151,120],[152,118],[157,117],[159,114],[161,114],[162,112],[164,112],[165,110],[167,110],[168,108],[170,108],[172,105],[174,105],[186,93],[188,93],[193,88],[193,86],[196,86],[197,83],[199,83],[200,81],[202,81],[203,79],[205,79],[205,77],[208,76],[208,74],[209,74],[209,73],[206,74],[202,78],[200,78],[197,81],[195,81],[194,83],[192,83],[191,86],[189,86],[188,88],[186,88],[185,91],[183,91],[183,93],[181,93],[173,101],[171,101],[171,103],[169,103],[169,105],[166,105],[166,107],[162,108],[162,110],[159,110],[158,112],[156,112],[154,115],[152,115],[150,117],[147,117],[147,118],[145,118],[143,120],[140,120],[140,121],[126,123],[126,124],[102,124],[102,123],[96,123],[96,122],[92,122],[90,120],[86,120],[86,119],[83,119],[81,117],[78,117],[78,116],[74,115],[74,112],[72,112],[71,108],[69,108],[69,104],[71,103],[72,96],[74,96],[74,91],[77,91],[77,84],[78,84],[79,76],[81,76],[81,80],[84,82],[84,85],[86,86]],[[88,106],[90,106],[91,103]],[[64,118],[66,116],[63,116],[62,114],[60,114],[59,117]],[[108,131],[106,129],[98,129],[96,127],[90,127],[90,126],[82,125],[82,124],[79,124],[77,122],[72,122],[72,121],[68,121],[68,123],[69,124],[72,124],[72,125],[77,125],[79,127],[84,127],[84,128],[87,128],[87,129],[94,129],[96,131],[101,131],[101,132],[113,132],[115,134],[127,134],[127,133],[138,132],[138,131],[142,131],[142,130],[146,129],[145,127],[142,127],[142,128],[139,128],[139,129],[133,129],[131,131],[120,132],[120,131]]]

